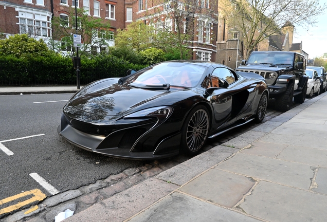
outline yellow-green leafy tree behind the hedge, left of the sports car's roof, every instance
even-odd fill
[[[130,48],[140,51],[152,45],[151,26],[142,22],[133,22],[124,30],[118,29],[115,36],[115,46],[117,48]]]

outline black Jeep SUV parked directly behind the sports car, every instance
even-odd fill
[[[264,77],[269,88],[269,97],[276,100],[275,109],[286,112],[293,97],[297,103],[305,100],[308,80],[305,66],[305,56],[297,52],[254,51],[235,70],[255,72]]]

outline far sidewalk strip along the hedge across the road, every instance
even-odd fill
[[[0,95],[76,93],[77,90],[77,86],[0,87]]]

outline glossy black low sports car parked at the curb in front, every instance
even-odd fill
[[[268,103],[263,77],[200,61],[169,61],[90,83],[63,108],[70,143],[126,159],[195,155],[208,138],[251,120]]]

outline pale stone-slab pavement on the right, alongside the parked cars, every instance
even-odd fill
[[[326,110],[327,93],[64,221],[326,221]]]

